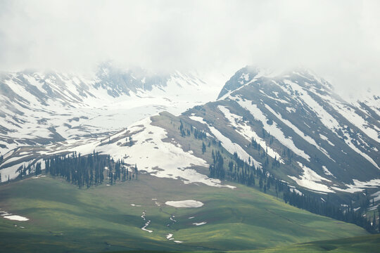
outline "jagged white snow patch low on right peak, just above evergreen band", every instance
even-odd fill
[[[303,169],[303,174],[300,176],[300,179],[298,179],[296,176],[289,176],[289,178],[293,179],[298,183],[298,186],[303,186],[305,188],[308,188],[310,190],[317,190],[322,193],[335,193],[334,190],[329,189],[328,186],[325,186],[322,183],[322,181],[329,181],[329,179],[325,179],[322,176],[319,176],[315,171],[312,169],[306,167],[305,165],[298,162],[298,165]]]

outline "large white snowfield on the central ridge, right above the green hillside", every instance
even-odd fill
[[[147,171],[160,178],[182,179],[184,183],[204,183],[208,186],[223,187],[219,179],[210,179],[195,169],[186,169],[191,166],[208,167],[208,164],[191,152],[184,152],[179,146],[164,142],[163,139],[167,138],[166,130],[153,126],[151,119],[143,119],[128,129],[135,132],[132,135],[134,145],[118,145],[116,141],[102,145],[96,148],[96,151],[110,154],[115,159],[124,159],[130,164],[137,164],[140,171]],[[127,143],[124,138],[120,141]]]

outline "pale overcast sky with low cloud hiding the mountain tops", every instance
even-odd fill
[[[4,1],[0,70],[308,67],[380,91],[380,1]]]

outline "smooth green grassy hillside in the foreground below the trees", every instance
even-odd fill
[[[367,234],[353,224],[236,186],[184,185],[144,174],[137,181],[88,190],[49,176],[2,185],[1,210],[30,220],[0,219],[1,252],[251,250]],[[167,200],[198,200],[204,205],[175,208],[165,205]],[[141,230],[144,211],[151,220],[146,229],[153,233]],[[171,215],[177,222],[170,221]],[[192,224],[203,221],[207,223],[202,226]],[[167,240],[169,233],[182,243]]]

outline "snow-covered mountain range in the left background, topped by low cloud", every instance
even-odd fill
[[[201,79],[197,73],[155,74],[110,63],[99,65],[89,77],[2,73],[0,155],[22,145],[108,135],[163,110],[179,114],[214,100],[222,83]]]

